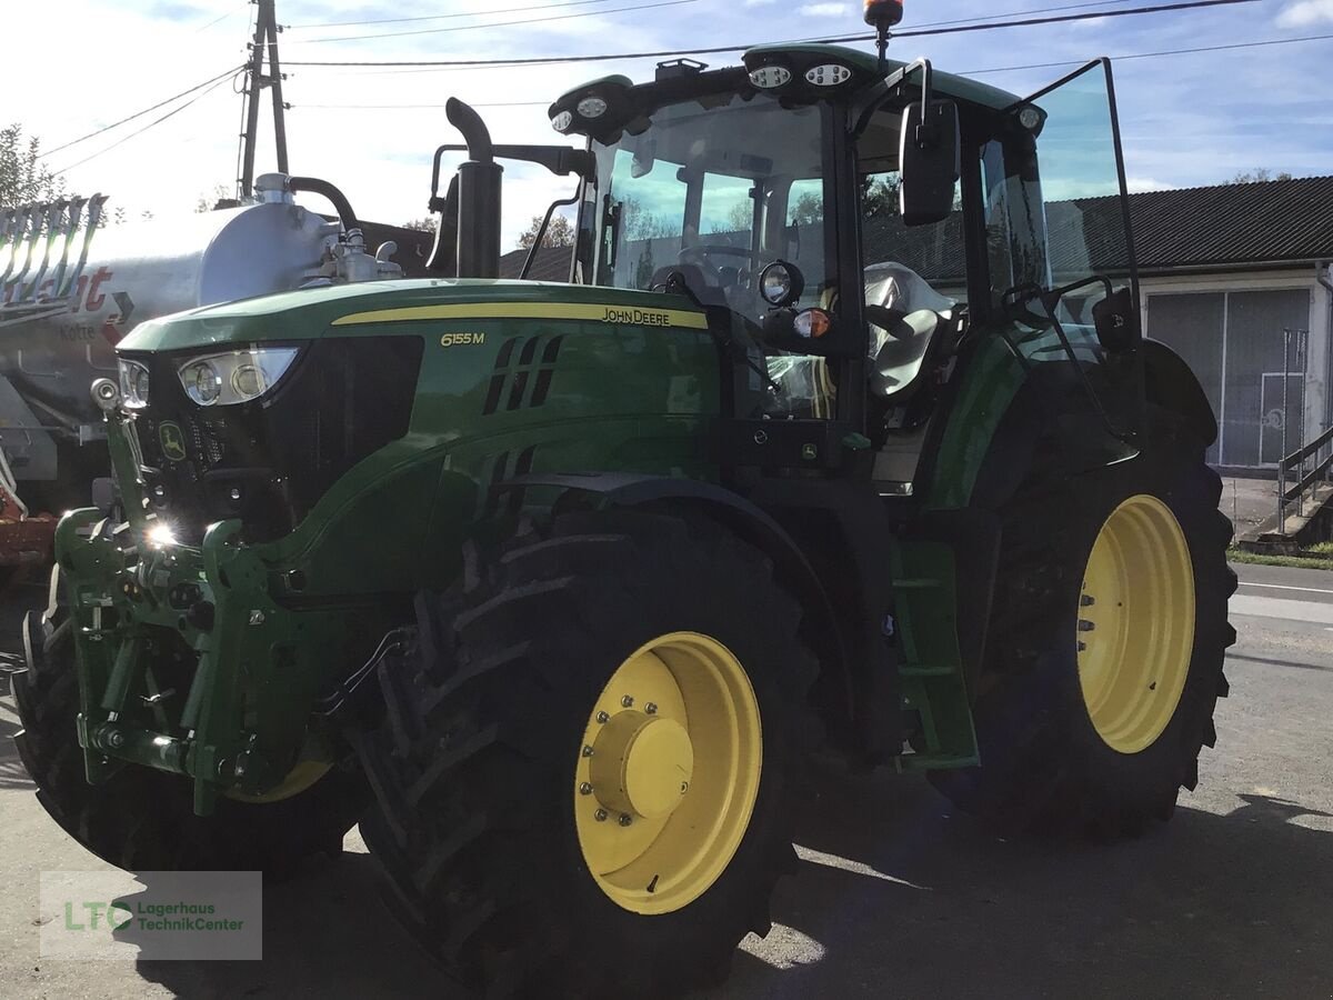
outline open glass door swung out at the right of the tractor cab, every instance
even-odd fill
[[[1138,276],[1110,63],[1005,109],[982,184],[1005,336],[1096,461],[1132,453],[1144,412]]]

